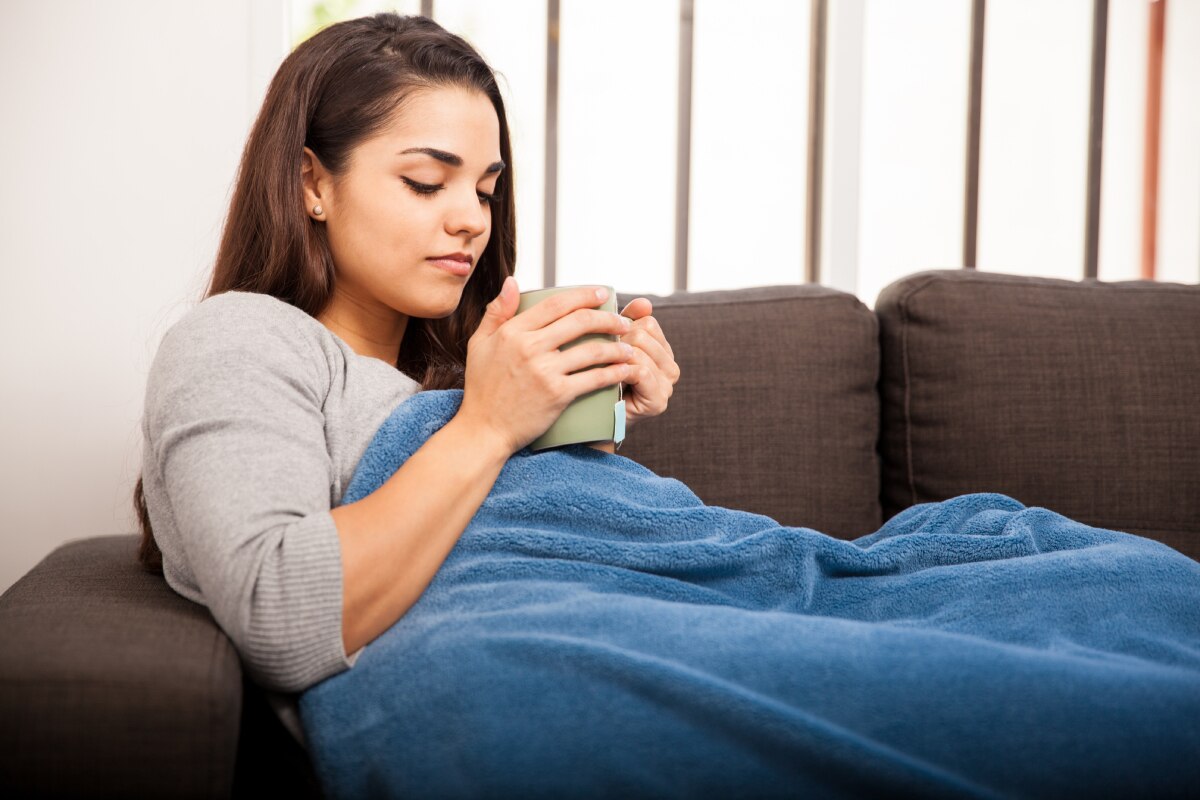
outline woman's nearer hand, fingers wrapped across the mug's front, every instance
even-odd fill
[[[580,395],[622,383],[631,357],[628,344],[592,341],[558,349],[584,333],[629,331],[626,318],[596,308],[604,299],[595,290],[562,291],[517,315],[517,282],[505,278],[467,342],[456,419],[497,435],[512,455],[545,433]],[[587,369],[594,365],[610,366]]]

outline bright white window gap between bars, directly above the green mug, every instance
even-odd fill
[[[572,0],[559,31],[557,283],[670,294],[679,4]]]

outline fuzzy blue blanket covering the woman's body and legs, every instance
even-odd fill
[[[342,501],[461,399],[404,401]],[[841,541],[620,455],[522,450],[300,711],[337,798],[1182,795],[1200,564],[991,493]]]

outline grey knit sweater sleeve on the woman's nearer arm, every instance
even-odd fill
[[[160,345],[154,449],[187,567],[247,670],[295,692],[353,662],[330,516],[329,367],[277,301],[217,296]]]

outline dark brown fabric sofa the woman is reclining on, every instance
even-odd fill
[[[709,505],[853,539],[1000,492],[1200,559],[1200,285],[931,270],[874,311],[815,284],[647,296],[682,378],[618,455]],[[0,793],[320,796],[136,543],[71,541],[0,597]]]

